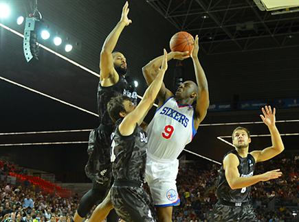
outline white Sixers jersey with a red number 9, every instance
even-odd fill
[[[174,97],[165,101],[148,125],[148,156],[176,160],[196,134],[194,109],[179,105]]]

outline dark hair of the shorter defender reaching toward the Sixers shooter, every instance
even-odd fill
[[[131,101],[131,99],[125,95],[118,95],[116,97],[112,97],[107,103],[107,111],[113,123],[120,119],[120,112],[126,112],[123,104],[125,100]]]

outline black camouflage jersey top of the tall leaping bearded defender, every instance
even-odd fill
[[[137,92],[132,82],[127,82],[123,75],[120,75],[119,81],[113,86],[103,87],[100,82],[98,84],[98,114],[100,116],[100,123],[104,125],[113,125],[111,118],[107,112],[107,103],[112,97],[122,94],[131,98],[135,105],[137,105]],[[110,132],[111,134],[112,132]]]

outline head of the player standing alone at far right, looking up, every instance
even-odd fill
[[[251,142],[250,132],[245,127],[236,127],[232,132],[232,144],[236,149],[247,148]]]

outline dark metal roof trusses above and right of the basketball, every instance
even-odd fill
[[[207,54],[299,46],[299,12],[273,15],[253,0],[147,0]],[[297,36],[297,38],[296,38]]]

